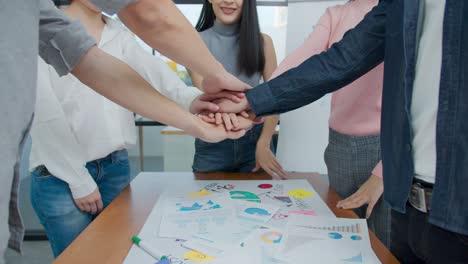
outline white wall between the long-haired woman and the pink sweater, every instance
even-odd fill
[[[286,54],[296,49],[313,30],[326,8],[346,1],[289,1]],[[277,156],[288,171],[326,173],[323,153],[328,142],[330,95],[281,115]]]

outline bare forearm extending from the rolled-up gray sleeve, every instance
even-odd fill
[[[199,121],[157,92],[127,64],[94,47],[72,73],[84,84],[123,107],[195,135]]]

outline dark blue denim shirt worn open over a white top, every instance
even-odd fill
[[[385,59],[381,148],[384,199],[405,212],[414,176],[411,97],[420,0],[382,0],[327,52],[250,91],[258,116],[307,105]],[[436,182],[429,221],[468,235],[468,1],[447,0],[436,131]],[[304,120],[307,122],[307,120]]]

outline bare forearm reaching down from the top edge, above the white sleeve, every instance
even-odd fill
[[[119,17],[149,46],[202,76],[223,71],[171,0],[139,0],[122,9]]]

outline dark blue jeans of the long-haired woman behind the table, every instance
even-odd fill
[[[257,141],[263,124],[255,125],[240,139],[219,143],[195,140],[194,172],[250,172],[255,168]],[[273,150],[273,144],[271,144]]]

